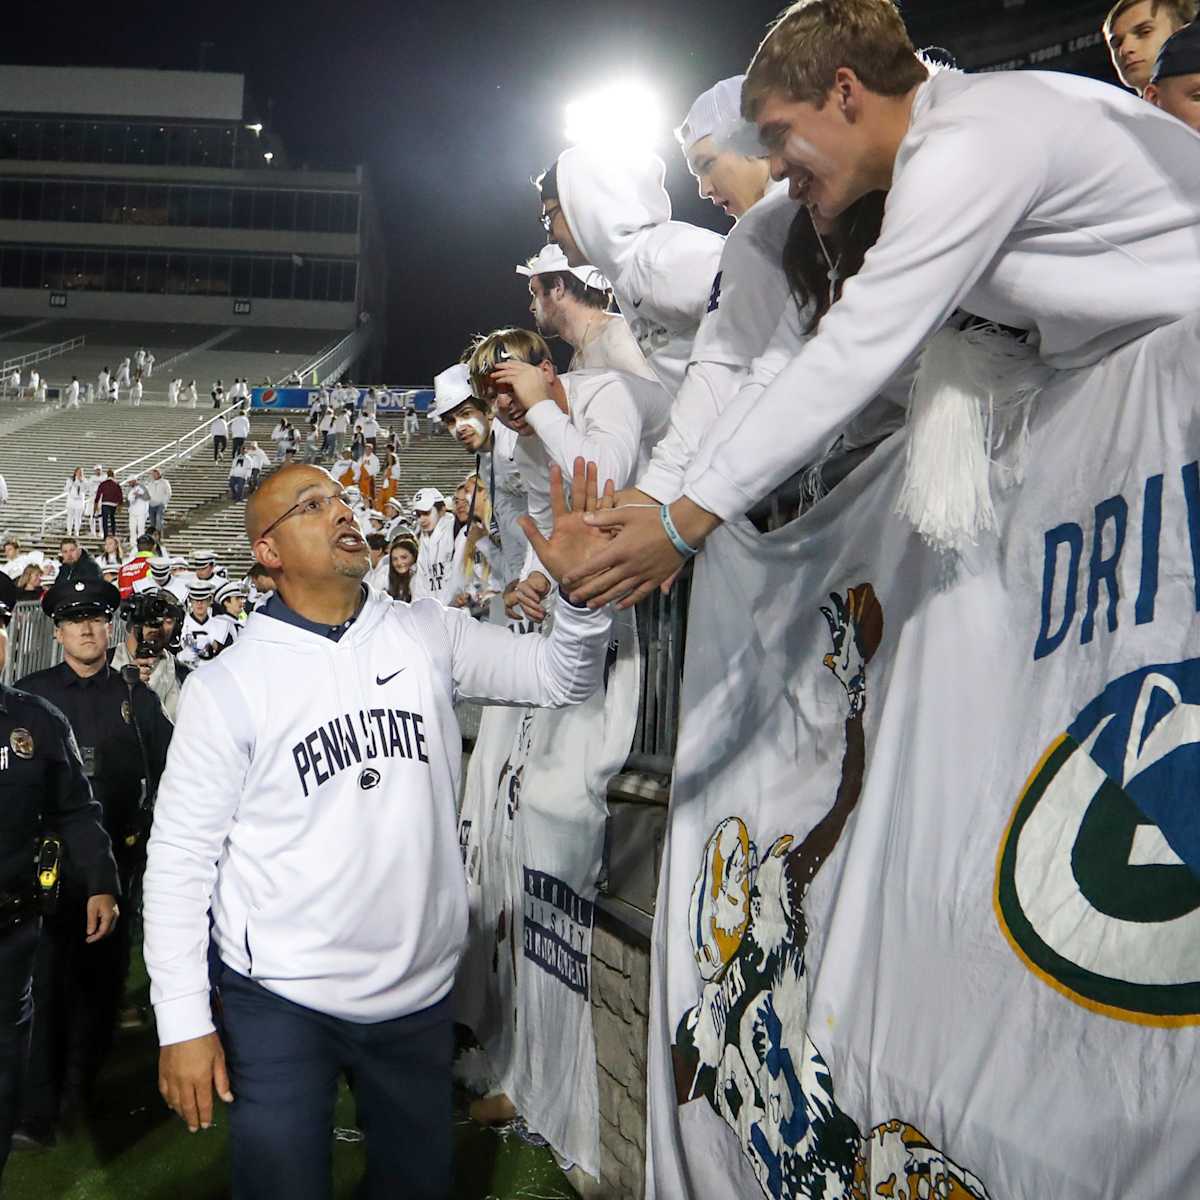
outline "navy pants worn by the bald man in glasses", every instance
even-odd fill
[[[444,1200],[451,1163],[451,1004],[358,1025],[216,964],[234,1200],[329,1200],[334,1102],[350,1079],[366,1200]]]

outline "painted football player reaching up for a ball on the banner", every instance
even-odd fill
[[[822,665],[847,701],[838,793],[803,838],[782,834],[763,852],[737,816],[709,835],[688,910],[702,991],[671,1048],[677,1099],[709,1104],[772,1200],[986,1200],[911,1124],[887,1121],[864,1138],[838,1108],[808,1036],[804,898],[862,794],[866,668],[883,640],[871,584],[829,601],[821,613],[833,646]]]

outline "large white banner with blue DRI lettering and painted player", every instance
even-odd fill
[[[904,434],[706,546],[650,1196],[1195,1194],[1198,386],[1200,319],[1056,377],[958,556]]]

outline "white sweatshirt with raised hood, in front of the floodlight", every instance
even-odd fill
[[[580,250],[613,295],[654,373],[673,396],[708,307],[725,239],[671,220],[658,155],[613,161],[572,146],[558,157],[558,202]]]

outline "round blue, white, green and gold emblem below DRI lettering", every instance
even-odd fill
[[[1110,683],[1033,769],[996,872],[1044,983],[1141,1025],[1200,1024],[1200,659]]]

